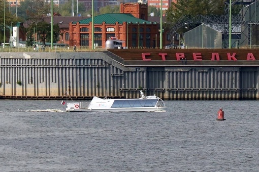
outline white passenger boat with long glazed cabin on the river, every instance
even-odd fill
[[[93,97],[87,108],[82,103],[67,103],[67,112],[147,112],[163,111],[165,103],[159,97],[144,96],[140,91],[138,99],[101,99]],[[62,101],[61,104],[64,104]]]

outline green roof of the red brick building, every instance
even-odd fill
[[[92,18],[84,19],[78,21],[80,24],[89,24],[92,21]],[[105,22],[106,24],[115,24],[118,22],[119,24],[122,24],[123,22],[132,22],[132,23],[147,23],[151,24],[152,22],[149,22],[147,20],[142,20],[139,18],[134,17],[132,14],[122,14],[122,13],[107,13],[102,14],[99,16],[95,16],[93,19],[94,24],[102,24]],[[73,22],[73,24],[76,24],[77,22]]]

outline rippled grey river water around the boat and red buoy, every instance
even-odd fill
[[[60,102],[0,100],[0,171],[258,171],[258,101],[143,113],[68,113]]]

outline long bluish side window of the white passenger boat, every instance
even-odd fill
[[[154,107],[157,99],[114,100],[111,108]]]

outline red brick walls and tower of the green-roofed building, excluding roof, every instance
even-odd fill
[[[140,3],[121,4],[121,13],[131,13],[136,18],[147,20],[147,5]],[[70,23],[70,46],[92,47],[92,23],[76,24]],[[94,44],[105,48],[105,42],[110,37],[116,37],[123,42],[122,47],[128,48],[155,48],[159,47],[160,34],[158,29],[160,24],[152,23],[127,23],[118,22],[114,24],[94,24]],[[80,31],[81,30],[81,31]],[[163,35],[163,45],[165,45],[165,34]]]

